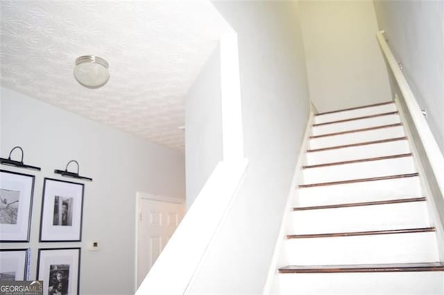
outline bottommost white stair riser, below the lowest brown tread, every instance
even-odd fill
[[[444,294],[444,271],[278,274],[272,294]]]

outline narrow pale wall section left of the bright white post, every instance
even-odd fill
[[[221,60],[216,46],[185,97],[187,208],[221,160]]]

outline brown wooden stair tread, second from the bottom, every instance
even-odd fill
[[[309,233],[302,235],[287,235],[287,239],[307,238],[333,238],[333,237],[355,237],[357,235],[391,235],[395,233],[427,233],[435,231],[434,227],[422,227],[419,229],[388,229],[384,231],[350,231],[345,233]]]

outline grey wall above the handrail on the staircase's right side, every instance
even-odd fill
[[[375,1],[380,30],[444,153],[444,2]]]

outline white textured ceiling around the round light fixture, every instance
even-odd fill
[[[183,99],[224,24],[210,2],[1,0],[0,6],[3,87],[183,149]],[[80,55],[109,62],[104,87],[76,82]]]

